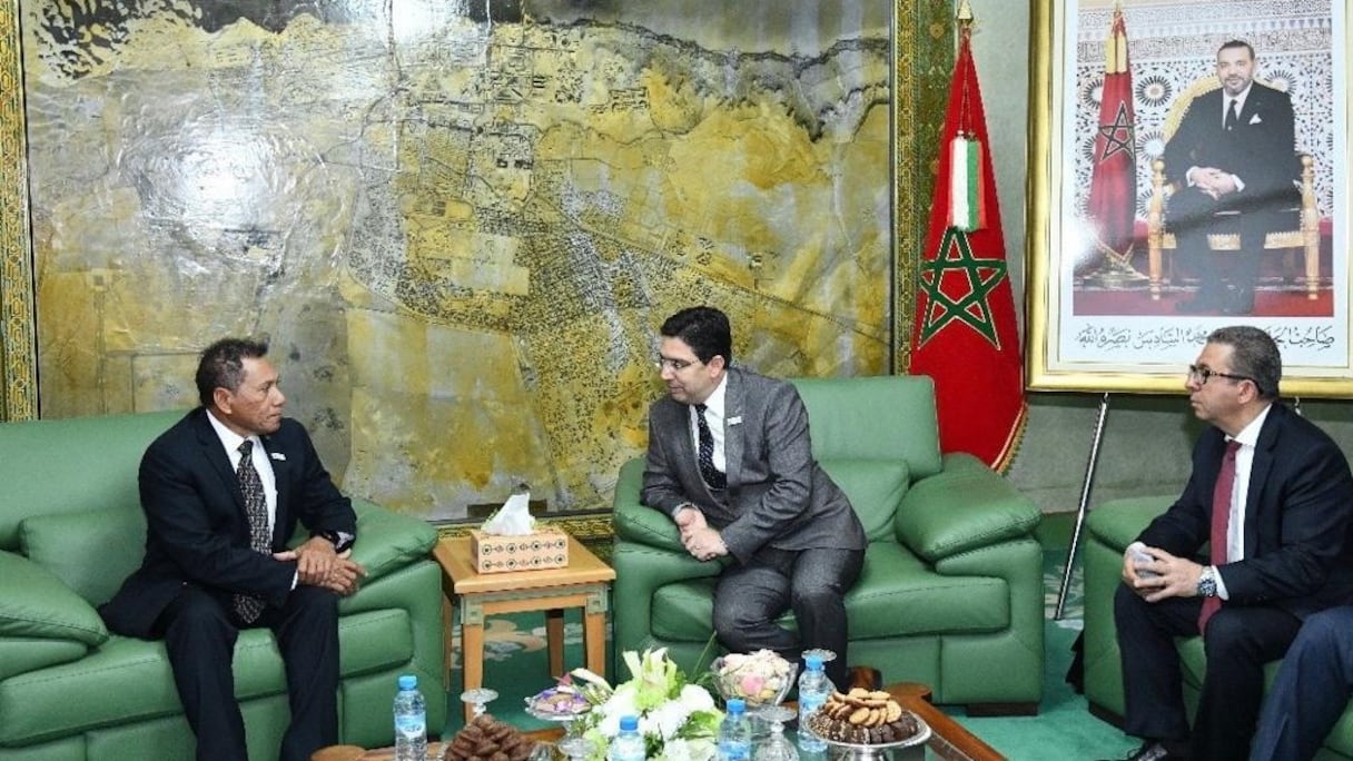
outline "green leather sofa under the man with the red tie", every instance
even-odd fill
[[[1091,510],[1085,520],[1081,561],[1085,570],[1085,697],[1091,712],[1116,726],[1122,726],[1123,716],[1123,666],[1114,627],[1114,592],[1122,584],[1123,551],[1173,501],[1173,496],[1112,500]],[[1203,638],[1181,638],[1176,646],[1184,666],[1184,701],[1192,712],[1203,685]],[[1270,684],[1277,666],[1279,661],[1268,665]],[[1344,712],[1318,758],[1353,758],[1353,708]]]

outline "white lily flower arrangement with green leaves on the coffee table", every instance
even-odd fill
[[[687,682],[676,664],[667,658],[666,647],[643,654],[630,650],[624,661],[630,678],[616,687],[587,669],[572,670],[574,688],[593,704],[579,719],[583,737],[591,741],[589,758],[606,757],[606,747],[620,731],[621,716],[639,716],[648,758],[713,758],[724,712],[709,691]]]

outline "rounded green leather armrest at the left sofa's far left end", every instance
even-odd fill
[[[108,639],[89,603],[28,558],[0,551],[0,635],[73,639],[91,647]]]

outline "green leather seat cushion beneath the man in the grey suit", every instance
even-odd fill
[[[713,590],[712,578],[658,588],[652,635],[664,640],[706,640]],[[901,544],[875,542],[865,551],[859,581],[846,594],[846,615],[852,640],[982,634],[1011,626],[1009,599],[1009,586],[999,577],[940,575]],[[793,622],[789,613],[779,620],[787,628],[793,628]]]

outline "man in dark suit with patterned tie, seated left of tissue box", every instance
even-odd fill
[[[349,558],[356,516],[304,428],[281,416],[267,353],[238,339],[202,353],[202,406],[141,460],[145,561],[100,608],[118,634],[164,638],[198,758],[248,758],[230,664],[250,627],[271,628],[285,662],[280,757],[338,741],[338,597],[365,573]],[[311,536],[288,550],[298,519]]]

